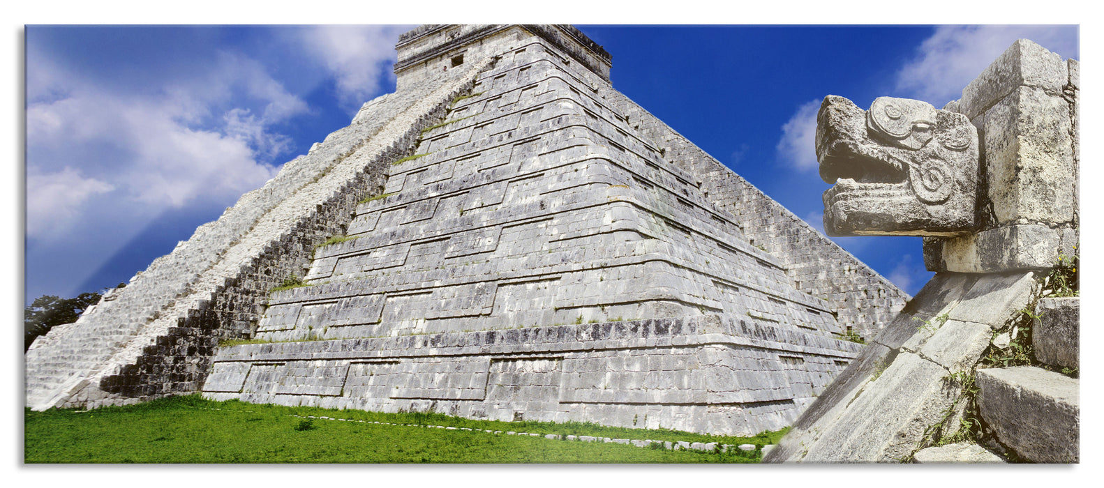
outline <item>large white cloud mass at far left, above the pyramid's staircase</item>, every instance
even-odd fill
[[[31,60],[28,237],[66,238],[76,221],[109,208],[124,229],[98,243],[105,255],[166,210],[230,204],[264,184],[290,142],[274,125],[308,110],[241,54],[216,53],[192,77],[139,93],[94,83],[42,52]]]

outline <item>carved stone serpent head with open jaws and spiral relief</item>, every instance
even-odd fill
[[[977,227],[977,129],[960,114],[880,97],[838,96],[817,114],[829,235],[962,235]]]

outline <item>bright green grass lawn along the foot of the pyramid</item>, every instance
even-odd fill
[[[219,409],[219,410],[213,410]],[[381,425],[291,415],[503,431]],[[776,444],[754,438],[593,424],[473,421],[442,414],[384,414],[213,402],[198,395],[92,411],[24,411],[25,463],[757,463],[758,452],[700,453],[506,435],[505,432],[636,439]]]

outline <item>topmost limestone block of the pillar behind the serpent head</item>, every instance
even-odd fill
[[[959,112],[973,119],[1020,86],[1061,94],[1066,79],[1062,56],[1020,39],[963,88]]]

